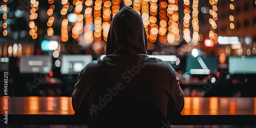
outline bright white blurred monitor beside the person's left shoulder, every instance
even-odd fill
[[[63,75],[79,74],[92,60],[92,55],[62,55],[60,73]]]

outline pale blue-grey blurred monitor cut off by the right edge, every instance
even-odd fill
[[[256,57],[230,56],[228,72],[230,74],[256,74]]]

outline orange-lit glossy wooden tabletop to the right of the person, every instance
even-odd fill
[[[185,97],[182,115],[256,115],[256,97]]]

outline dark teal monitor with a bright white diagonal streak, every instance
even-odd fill
[[[186,72],[191,75],[209,75],[217,73],[217,58],[215,56],[187,56],[186,57]]]

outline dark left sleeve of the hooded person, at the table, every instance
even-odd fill
[[[82,70],[83,71],[83,70]],[[86,100],[87,90],[86,85],[83,82],[82,73],[80,72],[78,75],[78,81],[75,84],[75,90],[72,94],[72,106],[73,110],[77,113],[80,110],[80,106],[83,102],[83,100]]]

